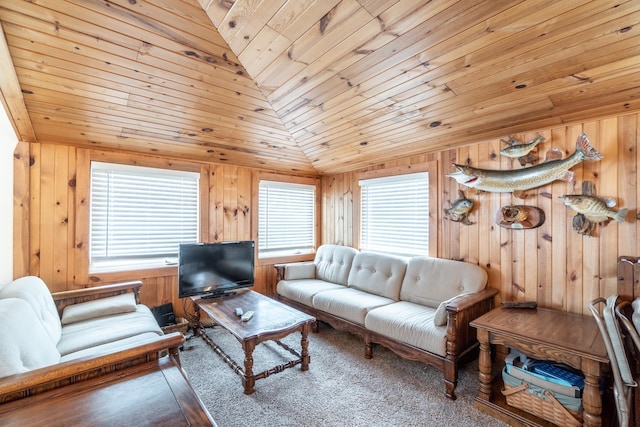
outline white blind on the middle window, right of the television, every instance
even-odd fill
[[[285,256],[315,249],[314,185],[260,181],[258,253]]]

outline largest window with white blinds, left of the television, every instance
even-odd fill
[[[91,163],[90,271],[172,264],[198,241],[194,172]]]

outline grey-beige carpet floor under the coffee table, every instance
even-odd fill
[[[240,343],[219,327],[206,333],[241,366]],[[287,337],[300,348],[300,334]],[[240,377],[202,338],[185,343],[182,364],[194,389],[220,427],[250,426],[505,426],[472,405],[478,388],[477,359],[460,371],[451,401],[442,373],[404,360],[383,348],[364,358],[361,338],[321,325],[310,335],[310,369],[287,369],[256,382],[243,393]],[[275,343],[254,352],[254,372],[285,363],[289,354]]]

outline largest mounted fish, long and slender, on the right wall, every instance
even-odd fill
[[[522,192],[559,179],[572,181],[573,172],[569,169],[584,160],[600,159],[602,159],[602,155],[591,146],[587,135],[581,133],[576,141],[576,151],[566,159],[547,160],[544,163],[518,170],[478,169],[454,164],[456,172],[447,174],[447,176],[455,179],[458,184],[478,190],[494,193]]]

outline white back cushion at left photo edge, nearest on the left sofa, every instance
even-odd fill
[[[31,305],[0,299],[0,377],[53,365],[60,353]]]

